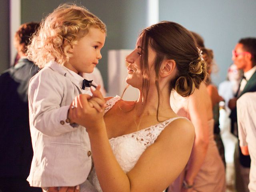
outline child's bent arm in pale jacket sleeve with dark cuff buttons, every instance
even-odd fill
[[[34,126],[48,136],[73,131],[76,128],[67,120],[70,106],[60,106],[64,94],[63,86],[54,84],[56,77],[52,74],[43,75],[43,77],[36,76],[30,81],[28,90],[30,126]]]

